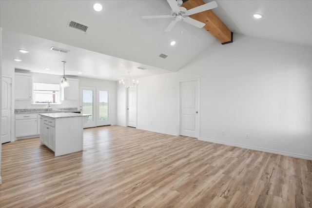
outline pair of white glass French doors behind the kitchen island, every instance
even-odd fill
[[[111,125],[109,88],[80,86],[80,110],[91,115],[85,128]]]

